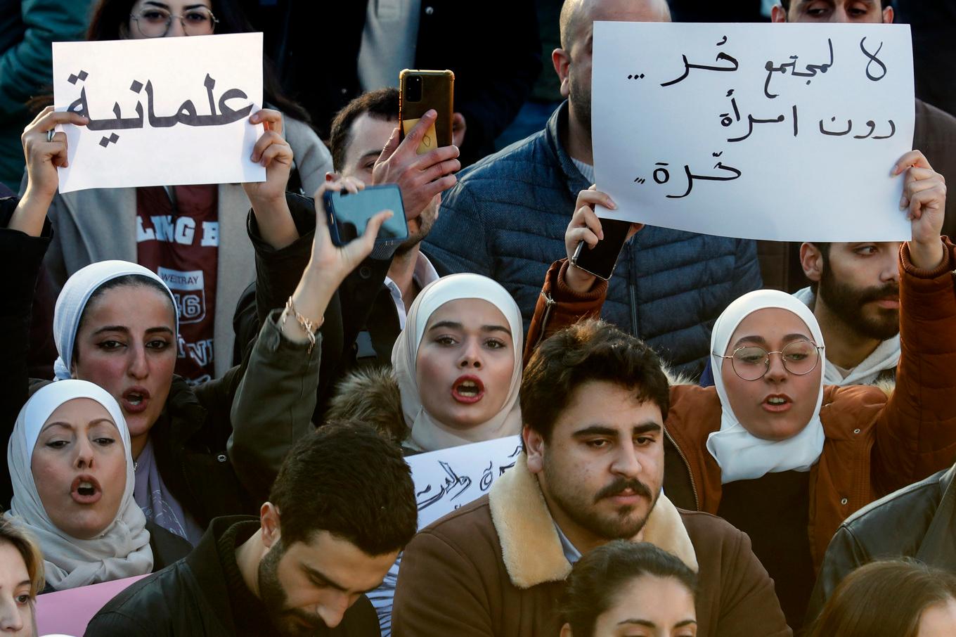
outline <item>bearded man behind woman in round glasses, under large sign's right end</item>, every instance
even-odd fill
[[[814,311],[827,343],[825,384],[879,384],[900,361],[899,242],[804,243],[809,287],[796,293]]]

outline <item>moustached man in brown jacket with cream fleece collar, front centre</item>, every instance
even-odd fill
[[[521,383],[524,452],[488,495],[408,544],[395,637],[557,635],[572,563],[612,539],[697,572],[698,637],[790,635],[747,536],[662,494],[668,391],[654,352],[608,323],[544,340]]]

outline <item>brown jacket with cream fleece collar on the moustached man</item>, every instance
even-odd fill
[[[663,495],[643,539],[698,573],[698,637],[791,635],[747,535]],[[556,637],[571,564],[522,453],[488,495],[419,532],[402,554],[395,637]]]

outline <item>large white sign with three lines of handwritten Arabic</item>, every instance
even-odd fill
[[[901,241],[906,25],[596,22],[604,217],[722,236]]]

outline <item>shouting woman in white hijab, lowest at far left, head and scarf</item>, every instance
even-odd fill
[[[64,590],[143,575],[184,557],[189,544],[154,558],[133,499],[129,430],[96,384],[64,381],[33,394],[7,446],[13,499],[6,517],[36,538],[47,587]],[[168,553],[168,552],[167,552]]]

